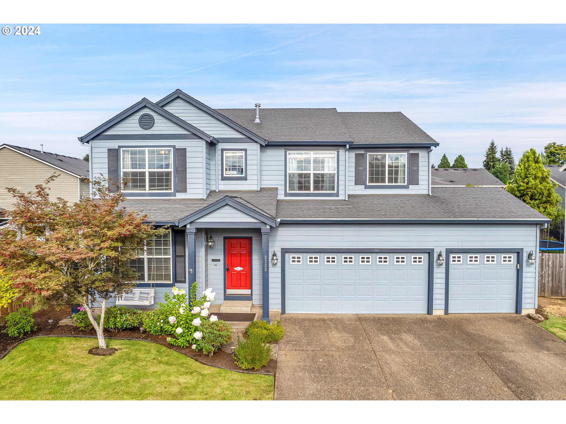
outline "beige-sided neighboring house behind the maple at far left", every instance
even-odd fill
[[[14,204],[7,187],[33,191],[53,174],[59,176],[49,184],[50,197],[78,202],[89,196],[89,184],[85,182],[89,175],[88,162],[27,147],[0,145],[0,208],[10,210]]]

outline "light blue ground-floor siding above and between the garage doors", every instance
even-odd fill
[[[292,248],[447,248],[524,249],[523,308],[534,308],[537,266],[526,264],[536,252],[537,224],[281,224],[271,231],[269,249],[281,259],[281,249]],[[444,309],[444,270],[434,267],[433,309]],[[281,308],[281,262],[269,266],[269,304]]]

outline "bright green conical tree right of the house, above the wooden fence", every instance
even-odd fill
[[[556,183],[550,180],[550,170],[544,169],[541,155],[535,149],[529,149],[519,160],[514,178],[507,183],[506,189],[541,214],[554,219],[560,201],[555,187]]]

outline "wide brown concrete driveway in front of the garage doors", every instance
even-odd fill
[[[515,314],[282,315],[275,399],[566,399],[566,343]]]

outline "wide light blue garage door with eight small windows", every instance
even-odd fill
[[[286,253],[286,313],[426,314],[428,253]]]

